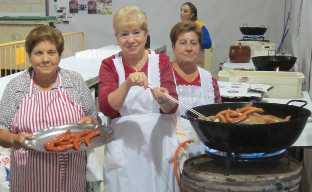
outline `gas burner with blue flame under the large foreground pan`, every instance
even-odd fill
[[[288,153],[286,149],[283,149],[273,153],[237,154],[220,152],[206,147],[206,155],[212,159],[223,161],[224,176],[229,176],[231,163],[261,163],[266,161],[275,161],[282,157],[287,157]]]

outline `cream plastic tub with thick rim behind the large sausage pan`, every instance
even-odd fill
[[[261,83],[274,86],[266,92],[269,98],[297,98],[301,95],[303,73],[284,71],[219,71],[218,80],[225,82]]]

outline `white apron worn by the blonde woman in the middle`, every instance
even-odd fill
[[[122,58],[115,55],[119,85],[124,82]],[[160,86],[159,57],[148,54],[148,82]],[[160,114],[149,89],[132,86],[121,117],[111,127],[116,140],[105,145],[104,192],[177,192],[173,156],[177,147],[172,115]]]

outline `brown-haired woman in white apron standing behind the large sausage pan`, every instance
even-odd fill
[[[202,43],[200,28],[194,22],[180,21],[171,28],[170,39],[175,56],[175,61],[171,65],[179,101],[191,108],[220,103],[217,81],[210,72],[197,67],[195,63]],[[193,135],[195,132],[192,131],[190,122],[180,117],[185,115],[185,111],[186,109],[181,106],[176,111],[178,121],[175,129],[178,143],[196,137]],[[186,149],[186,156],[180,154],[184,159],[205,152],[205,146],[201,142],[191,143]]]

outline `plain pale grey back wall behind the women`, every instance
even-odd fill
[[[166,44],[167,54],[172,58],[169,39],[171,27],[178,22],[180,5],[187,0],[113,0],[113,13],[125,5],[142,8],[148,19],[151,44]],[[283,29],[285,0],[192,0],[215,44],[214,71],[217,64],[228,55],[233,41],[241,39],[239,27],[265,25],[266,39],[279,44]],[[50,15],[53,15],[53,1],[50,1]],[[112,15],[77,15],[72,24],[57,24],[61,32],[83,31],[86,48],[99,48],[116,43],[112,29]]]

